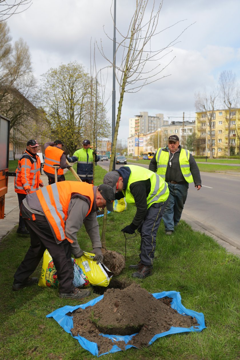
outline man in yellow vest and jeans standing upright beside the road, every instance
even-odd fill
[[[166,235],[172,235],[174,226],[181,219],[187,198],[189,183],[194,181],[195,188],[201,189],[198,165],[189,150],[179,145],[177,135],[168,138],[168,146],[159,148],[149,164],[149,170],[157,172],[168,184],[169,200],[163,214]]]

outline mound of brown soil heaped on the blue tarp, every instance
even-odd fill
[[[137,348],[148,346],[154,335],[173,327],[190,328],[198,325],[195,318],[181,315],[171,308],[171,298],[156,299],[140,285],[132,283],[124,289],[108,289],[102,300],[73,314],[73,336],[80,336],[98,344],[99,355],[108,352],[114,344],[125,350],[123,341],[113,343],[99,336],[131,335],[128,344]]]

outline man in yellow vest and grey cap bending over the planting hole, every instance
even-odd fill
[[[136,165],[108,172],[103,183],[112,186],[116,199],[125,197],[127,203],[137,207],[131,224],[121,231],[134,234],[138,229],[141,234],[140,262],[130,268],[137,269],[133,278],[143,279],[151,275],[153,268],[157,231],[168,202],[167,183],[154,172]]]

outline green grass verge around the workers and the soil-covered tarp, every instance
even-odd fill
[[[96,184],[102,182],[104,174],[105,171],[97,166]],[[68,172],[66,177],[70,180],[72,174]],[[125,255],[121,229],[131,222],[135,211],[134,206],[128,206],[127,211],[108,215],[106,242],[109,249]],[[103,219],[98,221],[101,232]],[[90,251],[91,242],[83,228],[78,233],[78,241],[82,249]],[[29,242],[28,236],[20,237],[13,229],[0,243],[0,359],[95,359],[55,320],[46,319],[46,315],[64,305],[75,306],[98,295],[92,292],[83,301],[59,299],[56,289],[37,285],[12,291],[14,272]],[[139,261],[139,246],[140,235],[127,241],[126,268],[119,279],[131,279],[128,265]],[[41,266],[42,261],[34,276],[40,276]],[[184,221],[180,221],[170,237],[164,234],[161,223],[153,275],[134,281],[150,293],[179,291],[187,309],[203,312],[207,328],[199,333],[162,337],[148,348],[131,348],[103,355],[101,359],[239,359],[239,266],[239,257],[226,252],[212,238],[194,232]]]

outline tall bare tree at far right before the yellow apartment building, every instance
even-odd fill
[[[227,155],[230,156],[230,132],[232,110],[239,104],[239,87],[237,85],[236,75],[232,71],[222,71],[219,76],[219,93],[225,111],[225,120],[228,126],[227,132]]]

